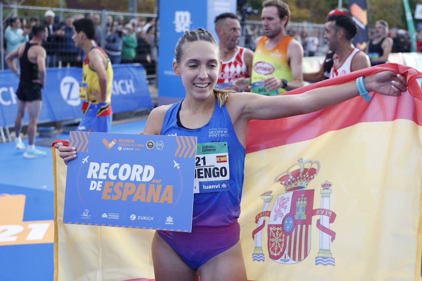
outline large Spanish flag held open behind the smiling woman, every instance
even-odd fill
[[[383,64],[287,94],[383,70],[406,75],[408,92],[249,123],[239,218],[249,280],[419,280],[422,74]],[[55,280],[154,278],[152,231],[63,224],[53,152]]]

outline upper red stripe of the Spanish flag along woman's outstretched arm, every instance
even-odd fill
[[[406,75],[408,92],[403,93],[400,97],[371,92],[371,102],[365,102],[362,97],[357,96],[317,112],[276,120],[251,120],[248,127],[246,153],[314,139],[329,131],[340,130],[362,122],[407,119],[422,126],[422,111],[417,111],[417,108],[422,107],[422,90],[416,80],[422,77],[422,73],[401,64],[368,67],[298,88],[284,93],[284,95],[301,94],[317,87],[352,81],[362,75],[372,75],[384,70]],[[257,132],[260,133],[257,134]]]

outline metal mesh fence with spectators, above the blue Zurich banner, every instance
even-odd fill
[[[45,17],[47,10],[52,10],[54,17]],[[72,67],[81,66],[84,60],[84,52],[76,48],[73,40],[73,21],[84,17],[89,17],[97,24],[95,42],[101,46],[111,56],[114,64],[119,63],[140,63],[144,66],[147,78],[155,78],[155,64],[157,61],[157,32],[155,30],[156,14],[146,13],[116,13],[112,11],[95,11],[65,8],[46,8],[24,5],[3,5],[0,3],[0,27],[1,53],[0,69],[7,69],[4,56],[8,51],[8,38],[5,31],[9,26],[12,15],[18,14],[21,20],[21,28],[25,33],[37,23],[51,24],[49,37],[43,44],[47,51],[47,67]],[[59,16],[60,15],[60,16]],[[7,33],[7,32],[6,32]],[[132,36],[135,40],[127,40]],[[24,40],[24,39],[22,39]],[[131,45],[125,44],[129,42]],[[135,43],[135,45],[133,45]],[[122,49],[134,48],[135,56],[125,56],[119,54]],[[116,58],[119,56],[119,58]]]

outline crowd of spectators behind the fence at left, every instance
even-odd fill
[[[31,16],[26,18],[12,17],[5,24],[4,45],[5,55],[16,49],[19,44],[31,38],[30,30],[34,24],[46,24],[49,37],[43,44],[46,49],[47,67],[81,67],[85,54],[76,48],[72,40],[73,21],[81,18],[91,18],[96,24],[95,42],[97,45],[105,40],[105,51],[112,64],[141,63],[148,75],[155,74],[157,61],[157,32],[155,18],[127,19],[123,16],[107,15],[106,28],[103,32],[101,16],[87,13],[67,16],[60,22],[59,17],[51,10],[44,13],[44,18]],[[19,67],[19,60],[16,65]],[[7,66],[5,66],[7,67]]]

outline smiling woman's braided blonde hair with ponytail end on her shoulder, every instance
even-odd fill
[[[183,45],[187,42],[195,42],[195,41],[206,41],[209,43],[212,43],[216,45],[218,48],[218,57],[220,58],[220,49],[218,46],[217,41],[214,39],[214,37],[211,35],[210,32],[203,29],[202,27],[198,28],[197,30],[186,30],[184,35],[179,38],[179,40],[176,43],[176,47],[174,48],[174,57],[176,58],[176,62],[180,63],[180,59],[183,56]],[[221,90],[221,89],[213,89],[214,96],[216,96],[218,100],[218,105],[220,107],[225,104],[230,94],[234,93],[234,91],[231,90]]]

